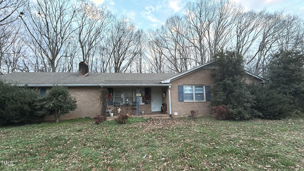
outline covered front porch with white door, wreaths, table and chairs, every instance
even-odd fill
[[[119,113],[130,116],[154,116],[169,113],[169,86],[113,86],[109,91],[108,108],[117,117]],[[110,115],[109,115],[110,116]],[[169,115],[168,115],[169,116]]]

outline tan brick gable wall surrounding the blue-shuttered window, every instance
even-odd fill
[[[211,69],[200,69],[171,82],[171,113],[172,117],[188,117],[190,110],[199,110],[199,116],[211,115],[209,110],[210,101],[205,102],[179,102],[178,85],[210,85],[214,83],[211,78]],[[212,97],[212,95],[211,95]],[[168,103],[169,104],[169,103]],[[174,115],[174,111],[178,115]]]

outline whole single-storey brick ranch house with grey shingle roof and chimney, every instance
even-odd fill
[[[72,96],[76,97],[78,107],[61,116],[62,120],[92,118],[100,114],[101,88],[109,91],[108,106],[114,116],[118,112],[126,112],[135,116],[168,113],[168,117],[188,117],[192,109],[199,110],[199,116],[204,116],[211,114],[209,101],[212,95],[209,90],[214,85],[211,70],[216,68],[215,63],[213,60],[180,74],[169,74],[88,73],[88,66],[81,62],[78,73],[14,72],[2,75],[2,78],[12,85],[37,87],[42,96],[53,85],[67,86]],[[247,72],[246,82],[264,84],[267,80]],[[114,106],[114,102],[119,102],[120,106]],[[46,116],[45,120],[54,120],[54,116]]]

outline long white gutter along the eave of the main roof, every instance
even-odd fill
[[[19,87],[53,87],[67,86],[67,87],[84,87],[84,86],[100,86],[100,87],[123,87],[123,86],[137,86],[137,87],[147,87],[147,86],[170,86],[171,84],[11,84],[17,85]]]

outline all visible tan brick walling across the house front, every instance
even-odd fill
[[[247,79],[247,83],[256,83],[253,79]],[[178,101],[178,85],[210,85],[211,89],[214,86],[214,82],[211,78],[211,69],[202,68],[198,71],[192,72],[179,79],[171,81],[171,113],[172,117],[188,117],[190,110],[199,110],[199,116],[211,115],[209,110],[210,101],[204,102],[179,102]],[[258,82],[256,83],[258,84]],[[101,113],[99,95],[100,88],[96,87],[70,87],[69,91],[72,96],[76,97],[78,108],[75,111],[63,115],[60,117],[62,120],[78,118],[78,117],[95,117]],[[169,89],[164,87],[162,91],[166,92],[164,103],[167,103],[167,110],[169,113]],[[48,90],[47,90],[48,92]],[[211,95],[212,97],[212,95]],[[114,109],[114,106],[109,106]],[[131,108],[131,107],[130,107]],[[132,111],[132,109],[130,109]],[[136,110],[129,114],[136,115]],[[144,111],[145,114],[151,112],[151,104],[140,105],[140,112]],[[174,111],[178,112],[178,115],[174,115]],[[114,112],[113,112],[114,113]],[[161,113],[161,112],[154,112]],[[141,114],[142,115],[142,114]],[[54,120],[54,116],[46,116],[45,120]]]

